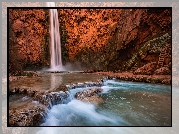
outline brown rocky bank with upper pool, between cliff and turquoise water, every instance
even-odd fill
[[[11,100],[9,105],[9,123],[11,126],[38,126],[45,119],[47,109],[62,103],[69,96],[70,90],[101,87],[104,83],[103,79],[115,78],[124,81],[171,84],[170,75],[134,75],[130,72],[91,71],[73,74],[65,73],[65,75],[61,73],[35,72],[35,74],[32,76],[9,77],[9,97],[23,95],[19,99]],[[92,77],[90,77],[91,75]],[[16,106],[14,102],[17,102],[15,103]]]

